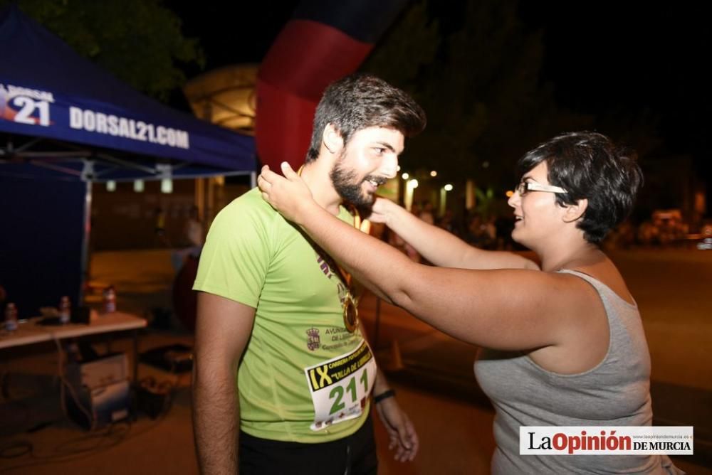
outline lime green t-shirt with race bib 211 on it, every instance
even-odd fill
[[[339,218],[353,221],[345,208]],[[237,378],[244,432],[328,442],[365,421],[375,358],[345,327],[337,272],[257,188],[216,216],[193,288],[256,309]]]

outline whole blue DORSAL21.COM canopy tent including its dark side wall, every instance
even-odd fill
[[[21,315],[83,300],[93,182],[254,177],[252,137],[132,90],[14,5],[0,45],[0,285]]]

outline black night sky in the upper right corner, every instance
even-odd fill
[[[544,30],[543,79],[562,105],[650,110],[661,116],[666,152],[707,153],[711,41],[701,6],[522,2],[520,11]]]

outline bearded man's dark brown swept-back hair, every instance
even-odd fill
[[[406,92],[372,75],[350,75],[324,91],[314,115],[306,161],[318,158],[328,124],[336,127],[347,144],[352,134],[367,127],[390,127],[413,137],[425,123],[425,112]]]

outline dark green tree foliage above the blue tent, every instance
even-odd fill
[[[0,0],[0,6],[11,3]],[[197,39],[160,0],[19,0],[21,11],[135,89],[167,100],[204,63]]]

